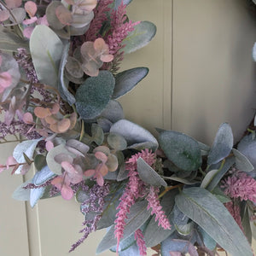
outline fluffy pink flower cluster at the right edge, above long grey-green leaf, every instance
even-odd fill
[[[256,181],[246,172],[236,172],[224,180],[222,185],[224,193],[231,198],[239,198],[241,201],[253,201],[256,203]]]

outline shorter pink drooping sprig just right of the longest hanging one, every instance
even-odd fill
[[[171,224],[168,218],[166,218],[166,213],[162,211],[162,207],[158,198],[158,192],[158,188],[150,186],[148,196],[146,197],[148,200],[148,210],[152,208],[151,215],[155,214],[155,221],[158,220],[158,225],[160,225],[165,230],[171,230]]]

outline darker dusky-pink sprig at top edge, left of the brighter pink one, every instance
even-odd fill
[[[100,0],[94,9],[94,19],[90,22],[90,28],[85,33],[85,41],[94,42],[97,38],[98,32],[102,28],[104,21],[108,20],[107,14],[110,11],[109,5],[113,0]]]

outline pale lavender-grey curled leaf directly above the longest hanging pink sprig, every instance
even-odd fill
[[[110,132],[118,133],[119,135],[125,137],[128,146],[136,143],[149,142],[154,143],[154,149],[158,147],[157,140],[149,131],[126,119],[121,119],[113,124],[110,128]]]

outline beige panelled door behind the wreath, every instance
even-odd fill
[[[151,20],[157,35],[127,55],[122,69],[149,67],[148,77],[121,99],[127,119],[183,131],[211,144],[218,125],[229,122],[236,139],[253,118],[255,19],[244,0],[134,0],[131,20]],[[1,162],[11,145],[1,147]],[[0,176],[0,255],[62,256],[79,239],[79,205],[55,198],[31,209],[11,199],[22,177]],[[95,255],[104,231],[70,255]],[[29,253],[30,252],[30,253]],[[102,255],[114,255],[102,253]]]

